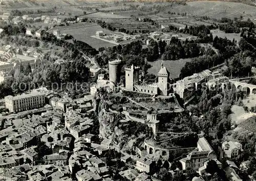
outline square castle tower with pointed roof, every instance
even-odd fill
[[[163,62],[161,64],[161,69],[158,72],[158,88],[160,90],[160,94],[168,95],[168,77],[169,72],[166,67],[163,66]]]

